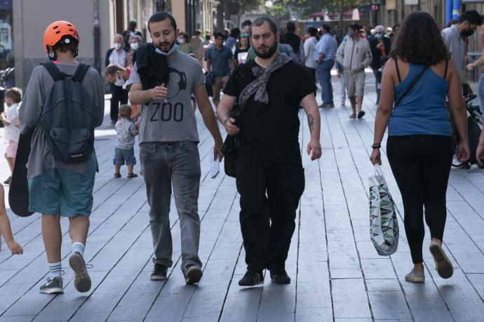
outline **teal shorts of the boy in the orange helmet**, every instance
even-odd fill
[[[43,215],[77,217],[93,209],[96,157],[91,156],[86,174],[68,169],[48,169],[29,182],[29,210]]]

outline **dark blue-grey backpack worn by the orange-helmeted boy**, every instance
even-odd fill
[[[54,85],[46,95],[39,120],[55,159],[67,163],[88,160],[94,150],[95,112],[82,85],[89,65],[80,63],[74,76],[60,72],[53,62],[41,64]]]

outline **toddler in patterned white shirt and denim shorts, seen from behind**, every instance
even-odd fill
[[[116,122],[116,149],[114,149],[114,177],[121,177],[119,170],[126,163],[128,166],[128,177],[137,177],[133,173],[133,166],[136,164],[135,158],[135,135],[137,135],[137,126],[130,119],[131,107],[121,105],[119,107],[119,120]]]

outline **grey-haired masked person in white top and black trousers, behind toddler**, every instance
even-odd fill
[[[126,60],[128,58],[128,53],[123,48],[123,35],[116,34],[114,36],[114,47],[110,48],[106,53],[105,67],[108,65],[117,64],[121,67],[126,67]],[[116,124],[118,121],[118,109],[119,103],[128,104],[128,92],[123,90],[121,86],[116,86],[114,83],[109,84],[109,89],[111,90],[111,123]]]

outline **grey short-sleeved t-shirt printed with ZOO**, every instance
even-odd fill
[[[170,81],[165,100],[151,100],[141,107],[140,143],[199,142],[196,119],[191,109],[191,91],[205,82],[200,63],[178,51],[168,59]],[[136,64],[126,85],[141,83]]]

